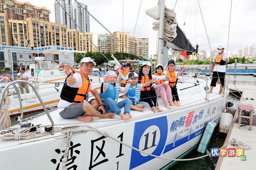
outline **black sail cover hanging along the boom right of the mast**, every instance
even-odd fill
[[[192,52],[196,52],[196,49],[190,44],[187,37],[184,35],[178,25],[176,28],[177,36],[175,37],[175,39],[172,40],[172,42],[167,42],[167,47],[174,50],[187,51],[187,53],[190,52],[191,54]]]

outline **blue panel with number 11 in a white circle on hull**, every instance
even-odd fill
[[[144,152],[159,156],[164,149],[167,132],[168,123],[166,116],[136,122],[134,125],[132,146]],[[135,168],[154,158],[132,150],[129,169]]]

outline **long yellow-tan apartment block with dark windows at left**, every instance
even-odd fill
[[[6,19],[0,13],[0,44],[18,47],[62,46],[74,50],[93,52],[92,33],[79,33],[77,29],[67,29],[66,25],[48,22],[38,18],[26,20]]]

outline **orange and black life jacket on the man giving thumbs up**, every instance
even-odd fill
[[[60,93],[60,98],[62,100],[66,100],[70,103],[77,104],[77,103],[83,102],[84,100],[86,100],[88,98],[88,92],[90,90],[90,80],[88,77],[85,78],[78,71],[74,71],[74,73],[78,73],[81,75],[82,82],[83,82],[82,86],[79,88],[75,88],[75,87],[70,87],[67,85],[67,83],[65,83],[63,85],[62,91]],[[69,76],[70,76],[70,74],[68,75],[68,77]],[[67,81],[67,78],[66,78],[65,82]]]

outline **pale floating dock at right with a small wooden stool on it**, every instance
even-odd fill
[[[229,85],[230,86],[230,85]],[[246,86],[243,86],[243,89]],[[237,87],[238,89],[242,87]],[[256,88],[253,86],[248,87],[248,89],[244,90],[242,93],[242,97],[239,101],[239,104],[242,105],[252,105],[254,107],[254,111],[256,110]],[[244,100],[248,98],[248,100]],[[254,100],[251,100],[253,98]],[[234,116],[234,119],[231,124],[231,128],[228,132],[226,140],[223,145],[228,144],[232,141],[233,138],[237,141],[240,141],[244,144],[249,145],[252,149],[244,150],[244,155],[246,156],[246,161],[241,161],[241,157],[219,157],[215,170],[255,170],[256,169],[256,116],[253,115],[253,123],[252,130],[249,129],[248,126],[242,126],[238,129],[238,109]],[[243,120],[243,119],[242,119]],[[228,144],[226,148],[235,148],[231,144]]]

